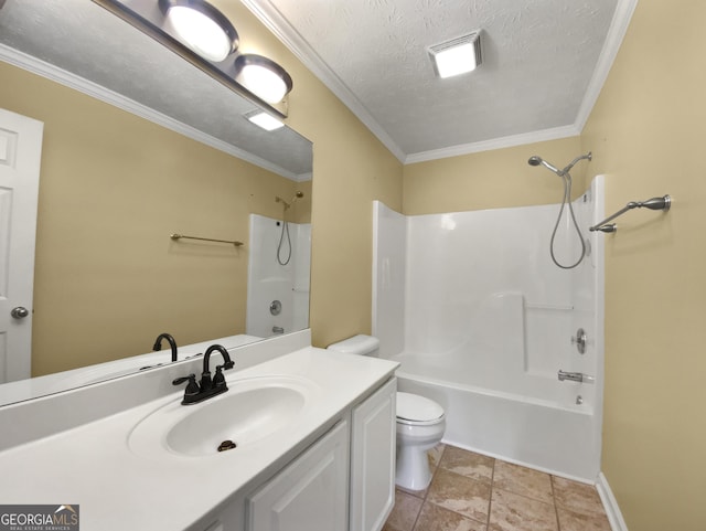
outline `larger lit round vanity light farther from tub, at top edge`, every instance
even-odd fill
[[[159,7],[180,42],[202,57],[218,63],[237,50],[237,31],[208,2],[159,0]]]

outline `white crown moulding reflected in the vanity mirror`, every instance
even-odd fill
[[[153,124],[160,125],[167,129],[191,138],[192,140],[196,140],[197,142],[232,155],[233,157],[245,160],[246,162],[250,162],[252,164],[264,168],[268,171],[271,171],[272,173],[277,173],[278,176],[291,179],[293,181],[306,180],[306,178],[302,179],[301,176],[297,176],[296,173],[288,171],[277,164],[274,164],[268,160],[265,160],[248,151],[237,148],[216,137],[212,137],[211,135],[200,131],[194,127],[175,120],[174,118],[151,109],[150,107],[147,107],[146,105],[142,105],[121,94],[110,91],[109,88],[100,86],[97,83],[72,74],[71,72],[33,57],[32,55],[19,52],[6,44],[0,44],[0,61],[4,61],[6,63],[18,66],[19,68],[23,68],[33,74],[67,86],[68,88],[78,91],[90,97],[139,116],[140,118],[145,118],[146,120],[152,121]]]

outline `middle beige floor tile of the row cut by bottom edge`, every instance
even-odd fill
[[[554,505],[493,489],[490,531],[558,531]]]

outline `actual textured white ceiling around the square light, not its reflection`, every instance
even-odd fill
[[[620,43],[603,50],[613,15],[631,13],[629,0],[243,2],[406,161],[576,135]],[[483,64],[437,78],[427,49],[479,29]]]

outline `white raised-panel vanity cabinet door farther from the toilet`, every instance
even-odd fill
[[[340,422],[248,497],[249,531],[347,531],[349,424]]]

